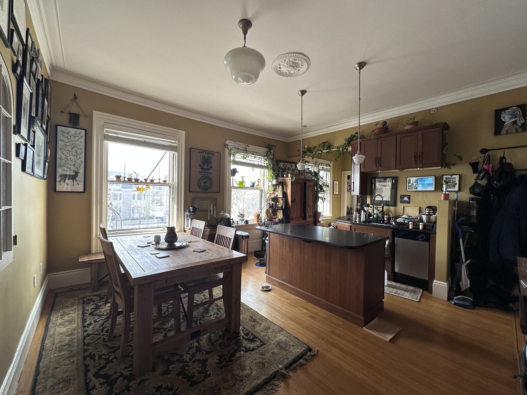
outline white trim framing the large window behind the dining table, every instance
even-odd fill
[[[106,114],[99,111],[93,112],[93,143],[92,143],[92,252],[101,251],[99,242],[99,224],[103,222],[105,210],[105,179],[104,167],[106,163],[106,150],[104,149],[104,130],[108,127],[119,125],[140,134],[155,136],[166,136],[170,140],[177,141],[178,153],[176,155],[174,172],[174,221],[176,229],[183,231],[184,223],[184,165],[185,165],[185,132],[170,127],[154,125],[147,122],[136,121],[118,115]],[[135,231],[140,233],[141,231]]]

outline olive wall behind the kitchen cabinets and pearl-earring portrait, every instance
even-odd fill
[[[367,100],[364,96],[363,100]],[[423,124],[426,125],[432,121],[447,122],[450,125],[450,137],[447,134],[447,141],[450,140],[452,147],[451,153],[459,153],[463,156],[463,161],[458,161],[452,155],[447,155],[446,161],[456,163],[452,167],[452,170],[448,169],[425,169],[425,170],[405,170],[405,171],[392,171],[392,172],[377,172],[368,174],[368,193],[369,181],[371,177],[379,176],[397,176],[397,206],[387,208],[392,210],[395,215],[402,214],[403,205],[399,203],[399,195],[408,194],[411,195],[411,206],[421,206],[424,209],[427,205],[436,205],[437,200],[441,196],[441,180],[443,174],[461,174],[460,180],[460,192],[458,194],[460,202],[460,212],[466,213],[467,203],[469,197],[472,196],[469,193],[469,187],[474,182],[474,175],[469,162],[481,161],[481,154],[479,153],[482,148],[497,148],[506,147],[512,145],[525,145],[527,144],[527,133],[516,133],[504,136],[494,136],[494,110],[497,108],[503,108],[516,104],[523,104],[527,102],[527,87],[517,88],[511,91],[495,93],[488,96],[482,96],[471,100],[449,104],[445,106],[435,107],[437,112],[432,114],[430,110],[420,111],[417,113],[408,114],[405,116],[399,116],[395,118],[389,118],[386,121],[388,123],[404,123],[408,116],[416,115],[416,120],[422,120]],[[525,115],[524,115],[525,117]],[[307,116],[304,116],[307,120]],[[427,122],[428,121],[428,122]],[[306,121],[307,122],[307,121]],[[368,135],[375,127],[375,123],[369,123],[361,125],[361,134]],[[402,125],[391,125],[391,131],[402,130]],[[308,137],[304,139],[306,145],[316,145],[321,141],[329,141],[335,145],[342,144],[345,137],[357,131],[357,127],[350,129],[339,130],[336,132],[326,133],[319,136]],[[289,156],[297,155],[300,141],[294,141],[287,144],[287,154]],[[497,165],[499,160],[500,152],[491,152],[491,161],[494,166]],[[516,169],[527,169],[527,148],[509,150],[506,152],[507,160],[514,164]],[[298,160],[298,157],[292,157],[291,160]],[[346,155],[342,159],[338,160],[333,164],[333,179],[338,180],[340,184],[341,172],[349,171],[351,165],[350,156]],[[523,172],[524,173],[524,172]],[[520,172],[516,173],[521,174]],[[411,176],[423,176],[423,175],[434,175],[436,190],[435,192],[406,192],[406,177]],[[340,199],[341,193],[343,193],[343,186],[340,186],[340,194],[331,194],[331,212],[333,214],[332,220],[340,216]],[[454,194],[451,193],[451,197],[454,198]],[[369,202],[368,195],[368,202]],[[329,222],[329,220],[326,220]]]

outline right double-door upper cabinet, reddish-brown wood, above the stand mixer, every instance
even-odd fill
[[[417,127],[397,134],[396,169],[438,167],[443,164],[443,135],[448,124]]]

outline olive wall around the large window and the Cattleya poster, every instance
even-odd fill
[[[268,139],[267,137],[238,132],[224,127],[194,121],[190,118],[169,114],[77,88],[71,85],[52,81],[53,103],[51,141],[55,141],[55,125],[67,125],[68,115],[62,113],[63,108],[73,97],[79,97],[79,104],[88,117],[81,117],[80,126],[87,130],[86,142],[86,192],[85,193],[57,193],[53,192],[53,172],[55,166],[55,144],[51,144],[50,174],[47,185],[48,197],[48,262],[50,273],[79,269],[79,255],[90,252],[91,237],[91,206],[92,206],[92,114],[100,111],[119,115],[138,121],[167,126],[186,132],[185,146],[185,197],[184,206],[188,208],[192,196],[217,197],[217,213],[224,209],[223,191],[225,188],[221,179],[220,193],[190,193],[189,191],[189,149],[199,148],[220,152],[222,155],[221,175],[225,166],[225,141],[232,140],[244,144],[264,146],[264,142],[276,144],[275,155],[285,159],[286,143]],[[240,87],[242,89],[242,87]],[[178,213],[183,215],[183,213]],[[207,214],[204,213],[207,219]],[[203,219],[203,218],[202,218]]]

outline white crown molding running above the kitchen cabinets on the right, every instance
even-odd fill
[[[386,120],[396,116],[411,114],[417,111],[428,110],[428,108],[440,107],[447,104],[453,104],[470,100],[477,97],[491,95],[511,89],[527,86],[527,70],[506,75],[504,77],[494,78],[477,84],[465,86],[450,92],[441,93],[434,96],[428,96],[411,103],[403,104],[393,108],[374,111],[363,114],[361,120],[363,124]],[[348,129],[358,125],[358,117],[348,118],[347,120],[328,123],[323,126],[314,127],[303,132],[306,137],[314,137],[320,134],[336,132],[338,130]],[[295,133],[288,137],[288,142],[300,140],[300,133]]]

